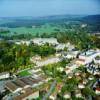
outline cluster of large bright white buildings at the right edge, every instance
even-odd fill
[[[91,74],[100,75],[100,59],[98,56],[100,56],[100,51],[96,50],[88,50],[81,53],[78,58],[75,58],[66,66],[66,73],[74,71],[80,65],[84,65]]]

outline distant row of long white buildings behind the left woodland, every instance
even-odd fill
[[[11,40],[10,40],[11,41]],[[56,50],[63,50],[64,48],[68,48],[68,50],[71,50],[74,48],[73,45],[68,43],[59,43],[56,38],[34,38],[32,40],[16,40],[13,41],[16,44],[26,44],[29,45],[30,43],[34,43],[36,45],[53,45]]]

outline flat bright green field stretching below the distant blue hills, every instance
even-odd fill
[[[1,33],[2,36],[4,37],[17,37],[19,35],[26,35],[26,37],[29,36],[41,36],[42,34],[46,33],[51,34],[51,33],[56,33],[56,32],[64,32],[65,28],[59,25],[50,25],[50,24],[44,24],[41,26],[34,26],[34,27],[16,27],[16,28],[5,28],[8,29],[10,32],[9,33]]]

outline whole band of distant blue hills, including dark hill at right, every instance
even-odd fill
[[[78,23],[77,23],[78,22]],[[45,16],[45,17],[3,17],[0,18],[0,27],[32,27],[41,26],[44,24],[52,24],[53,26],[65,25],[69,23],[70,25],[87,24],[87,29],[89,32],[100,31],[100,15],[56,15],[56,16]]]

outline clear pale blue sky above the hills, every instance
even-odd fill
[[[100,14],[100,0],[0,0],[0,17]]]

